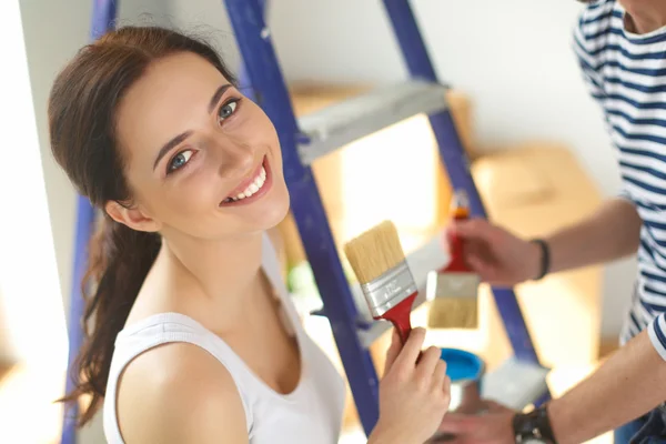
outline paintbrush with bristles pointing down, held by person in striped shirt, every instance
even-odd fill
[[[470,218],[467,194],[457,190],[451,205],[452,218]],[[465,262],[465,242],[447,234],[451,260],[437,271],[437,284],[428,313],[428,326],[435,329],[478,327],[478,285],[481,278]]]

